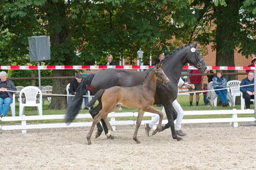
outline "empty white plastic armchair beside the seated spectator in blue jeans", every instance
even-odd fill
[[[22,102],[22,95],[25,96],[25,103]],[[39,97],[37,96],[39,95]],[[38,97],[38,103],[37,103]],[[37,107],[38,115],[42,115],[42,91],[35,86],[27,86],[19,93],[19,116],[24,113],[24,107]]]

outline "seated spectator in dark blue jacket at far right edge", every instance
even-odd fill
[[[252,84],[252,86],[244,86]],[[250,109],[250,100],[254,99],[254,73],[252,71],[248,72],[248,76],[242,80],[240,86],[240,91],[243,93],[243,98],[245,102],[246,109]]]

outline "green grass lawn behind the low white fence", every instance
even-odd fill
[[[222,107],[221,105],[218,105],[217,107],[212,107],[208,105],[203,104],[203,96],[200,95],[200,102],[199,106],[196,107],[195,105],[195,95],[194,95],[194,103],[193,107],[189,106],[189,95],[179,95],[178,96],[178,102],[182,106],[182,109],[184,111],[207,111],[207,110],[230,110],[230,109],[241,109],[241,105],[235,105],[234,107]],[[50,114],[65,114],[65,110],[49,110],[47,109],[48,103],[44,102],[43,105],[43,115],[50,115]],[[162,110],[162,107],[157,107],[154,105],[157,109]],[[251,105],[251,109],[254,109],[254,106]],[[130,109],[127,107],[123,107],[122,110],[118,110],[115,112],[138,112],[138,109]],[[88,110],[81,109],[80,110],[81,114],[89,113]],[[16,104],[16,116],[19,115],[19,104]],[[31,116],[31,115],[37,115],[37,110],[33,109],[33,107],[25,107],[25,115],[26,116]],[[12,116],[12,113],[10,110],[8,111],[8,116]],[[239,114],[239,117],[252,117],[253,114]],[[198,118],[230,118],[230,114],[221,114],[221,115],[195,115],[195,116],[184,116],[183,119],[198,119]],[[149,116],[144,116],[144,120],[150,120],[151,117]],[[166,119],[166,118],[164,118]],[[122,117],[122,118],[116,118],[116,120],[137,120],[137,117]],[[92,121],[92,118],[90,119],[76,119],[74,121]],[[18,121],[19,122],[19,121]],[[28,121],[28,123],[33,122],[33,123],[56,123],[56,122],[64,122],[64,120],[40,120],[40,121]],[[5,123],[11,123],[11,122],[3,122],[0,121],[0,124],[5,124]],[[15,122],[12,122],[15,123]],[[20,122],[19,122],[20,123]]]

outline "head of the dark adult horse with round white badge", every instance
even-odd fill
[[[196,45],[198,45],[198,42],[195,42],[187,46],[188,63],[191,65],[194,65],[201,72],[205,72],[206,70],[205,61],[203,61],[203,58],[201,57],[201,52],[196,49]]]

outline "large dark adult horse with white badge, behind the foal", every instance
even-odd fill
[[[205,62],[203,61],[203,58],[201,58],[201,53],[196,50],[196,45],[197,42],[192,45],[185,45],[174,50],[170,54],[167,54],[162,65],[162,70],[164,70],[164,73],[166,73],[171,82],[167,86],[161,86],[160,83],[157,83],[155,93],[155,104],[164,105],[167,120],[171,127],[172,137],[178,141],[180,141],[182,138],[178,137],[175,133],[173,114],[171,113],[173,112],[173,101],[177,98],[177,85],[182,73],[182,67],[185,65],[185,63],[190,63],[191,65],[194,65],[196,68],[200,69],[201,72],[205,72],[206,69]],[[87,86],[90,86],[92,93],[94,94],[99,91],[99,89],[107,89],[112,86],[137,86],[138,84],[142,83],[145,75],[148,72],[149,70],[145,70],[143,72],[133,72],[118,69],[106,69],[88,75],[78,86],[72,105],[69,105],[67,108],[65,122],[71,123],[80,111],[83,95],[87,91]],[[94,109],[90,111],[92,117],[96,116],[101,108],[102,105],[101,102],[99,102],[97,107],[94,107]],[[107,125],[105,125],[104,121],[101,121],[101,123],[103,123],[105,134],[108,134]],[[99,123],[97,127],[102,129]]]

